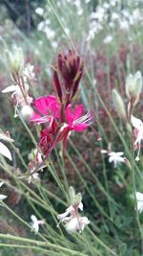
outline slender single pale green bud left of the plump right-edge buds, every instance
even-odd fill
[[[112,98],[113,98],[113,102],[116,108],[116,111],[119,115],[119,117],[121,119],[123,119],[124,121],[127,120],[127,114],[126,114],[126,110],[125,110],[125,105],[122,101],[121,96],[119,95],[119,93],[116,91],[116,89],[112,90]]]

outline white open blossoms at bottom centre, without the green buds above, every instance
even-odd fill
[[[80,233],[81,231],[84,230],[85,226],[90,223],[87,217],[81,217],[78,214],[78,209],[83,211],[82,202],[76,205],[71,205],[69,208],[66,209],[65,213],[57,216],[57,219],[60,222],[65,223],[65,228],[69,233],[74,233],[76,231]]]

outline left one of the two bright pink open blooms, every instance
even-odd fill
[[[33,103],[35,111],[31,116],[31,121],[36,124],[42,124],[51,121],[51,116],[59,117],[60,105],[53,95],[40,97]]]

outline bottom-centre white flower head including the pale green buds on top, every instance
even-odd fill
[[[81,194],[78,193],[77,195],[75,195],[75,192],[71,187],[70,197],[72,205],[66,209],[65,213],[58,215],[57,219],[65,224],[65,228],[69,233],[74,233],[76,231],[80,233],[84,230],[85,226],[90,223],[90,221],[87,217],[81,217],[78,213],[78,210],[83,211]]]

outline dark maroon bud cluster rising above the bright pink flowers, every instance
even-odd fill
[[[53,84],[60,103],[69,105],[76,95],[83,75],[83,61],[72,50],[58,55],[53,70]]]

